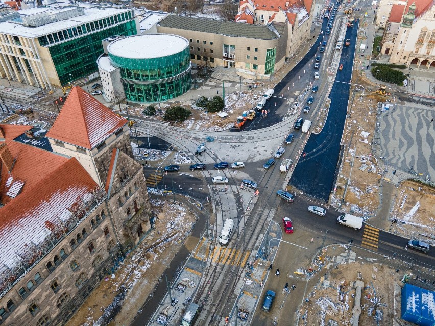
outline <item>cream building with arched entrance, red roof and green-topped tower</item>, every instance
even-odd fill
[[[435,5],[429,0],[394,4],[382,37],[390,63],[435,70]]]

